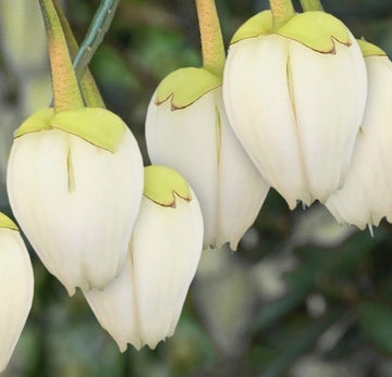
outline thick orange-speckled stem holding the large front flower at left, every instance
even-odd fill
[[[52,0],[39,0],[48,38],[54,111],[63,112],[83,108],[83,99],[72,66],[60,20]]]

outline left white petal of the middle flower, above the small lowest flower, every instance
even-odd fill
[[[205,244],[216,242],[218,223],[218,150],[215,91],[175,110],[152,96],[146,118],[146,141],[152,164],[175,168],[197,192],[205,222]]]

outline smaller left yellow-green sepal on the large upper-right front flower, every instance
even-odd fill
[[[272,32],[272,12],[262,11],[245,22],[234,34],[231,45],[247,38],[266,36]]]

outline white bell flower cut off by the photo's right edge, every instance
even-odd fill
[[[326,205],[340,223],[364,229],[382,217],[392,223],[392,62],[378,47],[359,43],[368,74],[365,116],[345,184]]]

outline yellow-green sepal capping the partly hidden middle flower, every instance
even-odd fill
[[[172,110],[184,109],[222,85],[222,79],[205,68],[180,68],[159,84],[155,103],[171,100]]]

